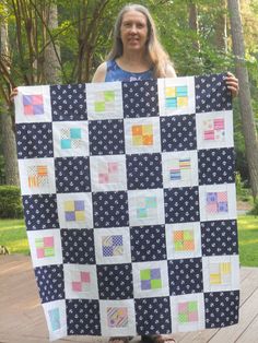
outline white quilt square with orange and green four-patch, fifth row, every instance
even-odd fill
[[[166,224],[167,259],[201,257],[200,223]]]

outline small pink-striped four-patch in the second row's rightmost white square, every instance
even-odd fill
[[[223,142],[224,139],[225,139],[224,118],[203,120],[203,140],[204,141]]]

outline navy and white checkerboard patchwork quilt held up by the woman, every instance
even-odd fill
[[[17,158],[50,340],[237,323],[223,74],[19,87]]]

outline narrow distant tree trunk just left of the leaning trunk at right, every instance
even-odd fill
[[[215,23],[215,46],[219,51],[227,52],[226,0],[220,2],[221,13]]]

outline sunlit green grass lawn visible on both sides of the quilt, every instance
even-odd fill
[[[241,264],[258,267],[258,216],[238,217]],[[28,244],[23,220],[0,220],[0,245],[10,253],[28,255]]]

